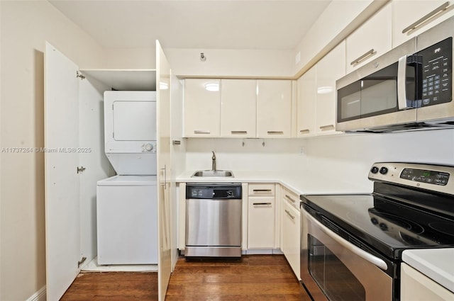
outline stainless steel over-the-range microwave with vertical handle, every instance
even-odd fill
[[[336,130],[454,128],[454,17],[336,81]]]

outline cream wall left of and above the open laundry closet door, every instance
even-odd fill
[[[0,13],[2,148],[44,147],[46,40],[81,68],[154,67],[151,51],[107,53],[48,1],[2,0]],[[0,300],[27,300],[45,285],[44,154],[0,156]]]

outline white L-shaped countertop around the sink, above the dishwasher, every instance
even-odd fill
[[[192,178],[194,171],[185,171],[177,182],[186,183],[280,183],[297,194],[371,193],[370,189],[349,183],[345,178],[333,178],[314,171],[236,171],[233,178]]]

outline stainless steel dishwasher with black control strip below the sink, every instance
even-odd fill
[[[241,256],[241,193],[240,183],[187,183],[184,256]]]

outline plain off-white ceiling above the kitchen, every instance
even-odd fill
[[[109,48],[293,50],[331,0],[49,0]]]

